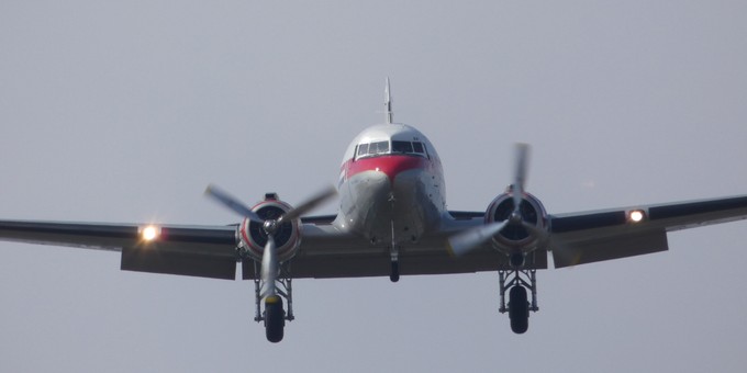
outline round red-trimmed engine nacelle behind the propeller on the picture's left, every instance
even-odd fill
[[[292,207],[280,201],[275,193],[265,195],[265,201],[259,202],[252,211],[255,212],[263,219],[277,219]],[[275,233],[275,245],[278,253],[278,260],[286,261],[296,255],[301,244],[301,234],[299,230],[300,219],[283,222]],[[238,226],[238,237],[241,246],[254,259],[261,260],[265,246],[267,245],[267,233],[263,224],[245,218]]]

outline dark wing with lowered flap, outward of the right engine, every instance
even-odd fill
[[[556,268],[626,258],[667,250],[668,231],[745,218],[747,195],[551,215],[550,249]]]

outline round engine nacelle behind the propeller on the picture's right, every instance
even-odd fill
[[[547,230],[547,213],[537,197],[529,193],[524,193],[520,211],[524,223],[531,224],[539,230]],[[513,192],[509,190],[490,203],[486,212],[486,224],[508,221],[513,212]],[[536,235],[529,234],[525,227],[519,224],[506,225],[500,233],[493,236],[493,244],[498,249],[506,253],[516,251],[529,252],[540,248],[543,245],[547,245],[547,242],[542,242]]]

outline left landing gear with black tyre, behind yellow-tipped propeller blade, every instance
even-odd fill
[[[267,295],[263,292],[266,287],[265,281],[259,275],[260,269],[254,262],[254,294],[256,313],[254,320],[265,323],[265,334],[267,340],[277,343],[282,340],[286,320],[292,321],[293,317],[293,287],[291,285],[290,265],[280,264],[280,273],[275,280],[276,294]],[[288,303],[288,312],[283,309],[283,298]],[[261,310],[261,303],[265,301],[265,310]]]

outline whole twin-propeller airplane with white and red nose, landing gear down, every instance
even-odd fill
[[[205,194],[242,217],[233,225],[0,221],[0,240],[121,253],[121,269],[235,280],[255,285],[255,317],[279,342],[293,315],[293,279],[499,274],[500,313],[524,334],[537,312],[536,271],[668,250],[667,233],[747,218],[747,195],[548,214],[525,190],[528,146],[484,211],[446,207],[441,158],[415,127],[395,123],[389,79],[384,123],[347,147],[336,188],[292,207],[276,193],[248,207],[218,187]],[[306,216],[339,196],[336,215]],[[508,292],[508,302],[506,302]],[[287,307],[286,307],[287,305]],[[264,307],[263,307],[264,306]]]

